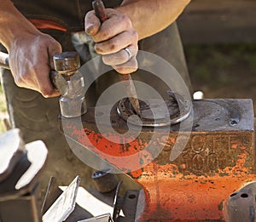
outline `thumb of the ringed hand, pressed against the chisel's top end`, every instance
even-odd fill
[[[84,30],[90,36],[95,36],[100,30],[101,21],[96,17],[94,11],[90,11],[84,18]]]

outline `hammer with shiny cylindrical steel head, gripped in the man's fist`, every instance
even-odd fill
[[[51,83],[61,93],[62,117],[80,117],[86,109],[84,77],[79,73],[80,59],[77,52],[63,52],[53,57],[55,71],[49,71]],[[9,69],[9,54],[0,52],[0,67]]]

